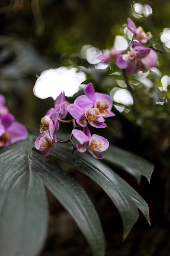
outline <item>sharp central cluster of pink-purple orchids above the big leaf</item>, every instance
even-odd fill
[[[102,159],[102,151],[108,148],[108,141],[97,134],[91,136],[90,130],[87,125],[91,125],[96,128],[105,128],[104,123],[106,117],[115,116],[111,111],[112,98],[107,94],[95,93],[94,86],[88,84],[85,88],[84,95],[75,99],[74,103],[69,104],[65,100],[64,93],[61,93],[55,100],[55,108],[51,108],[46,115],[41,118],[41,135],[35,141],[35,147],[37,150],[42,151],[41,157],[46,157],[51,154],[54,146],[58,142],[67,143],[71,142],[74,149],[79,152],[85,152],[88,146],[89,152],[95,158]],[[66,117],[67,112],[73,117],[71,120],[63,120]],[[75,124],[75,120],[78,125]],[[55,131],[58,130],[58,121],[63,123],[73,124],[73,130],[70,137],[66,141],[60,141],[56,139]],[[83,127],[83,131],[78,129]],[[78,140],[78,144],[74,145],[72,136]]]

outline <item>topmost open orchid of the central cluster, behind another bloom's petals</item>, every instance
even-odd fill
[[[109,95],[103,93],[95,93],[95,89],[92,84],[88,84],[86,86],[84,93],[85,95],[79,96],[74,101],[74,103],[79,105],[80,108],[96,108],[98,109],[101,117],[104,118],[115,116],[115,114],[111,111],[113,101]]]

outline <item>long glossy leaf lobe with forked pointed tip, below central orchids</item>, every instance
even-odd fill
[[[71,154],[71,148],[67,145],[57,145],[52,155],[83,172],[105,190],[121,215],[124,238],[138,219],[137,208],[142,211],[149,222],[149,210],[146,201],[102,161],[86,153],[74,152]]]

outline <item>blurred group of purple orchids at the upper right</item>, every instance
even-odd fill
[[[142,27],[136,28],[131,18],[128,18],[126,27],[132,32],[133,39],[129,44],[129,49],[125,51],[117,51],[112,48],[109,49],[97,58],[102,63],[108,63],[116,59],[116,65],[120,69],[125,69],[125,74],[134,74],[137,71],[146,71],[150,68],[157,68],[157,53],[153,50],[154,46],[145,47],[143,44],[147,43],[152,37],[150,32],[145,33]],[[152,48],[152,49],[151,49]]]

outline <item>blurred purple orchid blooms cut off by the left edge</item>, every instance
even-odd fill
[[[27,129],[15,122],[14,116],[5,106],[5,97],[0,94],[0,147],[5,147],[28,136]]]

